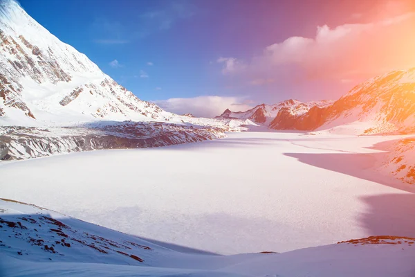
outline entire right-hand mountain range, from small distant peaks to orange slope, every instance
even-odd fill
[[[248,118],[270,129],[411,134],[415,132],[415,68],[371,78],[337,101],[286,100],[248,111],[226,109],[216,118]]]

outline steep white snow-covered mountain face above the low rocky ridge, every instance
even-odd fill
[[[0,120],[165,120],[173,114],[136,96],[18,3],[0,2]],[[28,120],[29,119],[29,120]]]

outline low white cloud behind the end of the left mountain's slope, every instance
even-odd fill
[[[239,97],[198,96],[194,98],[170,98],[153,101],[166,111],[175,114],[191,113],[198,117],[213,118],[219,116],[225,109],[246,111],[252,108],[252,101]]]

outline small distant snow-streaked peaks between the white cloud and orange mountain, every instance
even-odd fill
[[[223,114],[216,116],[216,118],[249,119],[255,123],[268,126],[275,116],[277,116],[280,109],[287,109],[293,115],[301,115],[306,113],[311,107],[326,107],[327,105],[331,105],[331,103],[329,100],[304,103],[299,100],[289,99],[274,105],[257,105],[252,109],[248,109],[248,111],[230,111],[230,109],[226,109]]]

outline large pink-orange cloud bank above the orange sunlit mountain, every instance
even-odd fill
[[[232,57],[218,62],[224,64],[224,74],[250,78],[250,84],[277,84],[288,69],[297,80],[353,82],[414,67],[414,30],[415,12],[365,24],[317,26],[315,37],[289,37],[249,61]]]

